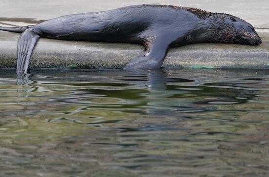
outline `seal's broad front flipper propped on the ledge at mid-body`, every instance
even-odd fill
[[[170,43],[171,41],[161,38],[147,42],[146,50],[128,63],[124,70],[160,69]]]

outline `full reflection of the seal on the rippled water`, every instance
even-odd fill
[[[17,76],[18,92],[56,104],[117,109],[139,114],[173,115],[216,110],[221,104],[245,103],[256,93],[244,80],[227,80],[234,71],[209,70],[39,70]],[[225,76],[223,76],[225,75]],[[247,82],[248,83],[248,82]],[[52,94],[53,93],[53,94]],[[61,93],[59,95],[59,93]],[[24,95],[25,96],[25,95]]]

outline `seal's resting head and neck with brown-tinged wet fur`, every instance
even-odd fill
[[[215,14],[210,18],[215,37],[211,41],[244,45],[259,45],[261,38],[254,27],[246,21],[228,14]]]

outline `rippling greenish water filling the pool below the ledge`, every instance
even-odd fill
[[[0,177],[269,176],[269,70],[0,73]]]

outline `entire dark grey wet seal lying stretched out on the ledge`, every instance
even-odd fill
[[[26,73],[40,37],[145,46],[124,69],[158,69],[169,48],[192,43],[262,43],[253,26],[222,13],[171,5],[134,5],[94,13],[58,17],[23,27],[0,27],[22,33],[18,41],[17,72]]]

